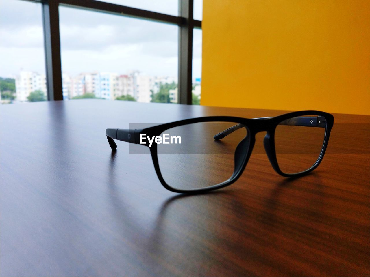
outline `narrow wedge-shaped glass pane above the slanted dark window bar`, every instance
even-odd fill
[[[104,2],[171,14],[172,16],[178,16],[179,14],[178,0],[104,0]]]

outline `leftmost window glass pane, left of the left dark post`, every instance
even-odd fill
[[[0,1],[0,103],[46,100],[41,4]]]

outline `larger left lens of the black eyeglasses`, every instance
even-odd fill
[[[172,188],[189,190],[228,181],[245,160],[249,140],[238,145],[246,137],[247,129],[242,126],[220,140],[213,136],[235,125],[238,123],[201,122],[164,131],[161,137],[163,142],[166,138],[166,144],[157,144],[157,153],[166,183]]]

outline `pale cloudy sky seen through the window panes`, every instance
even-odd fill
[[[177,0],[107,0],[137,8],[177,14]],[[201,1],[194,1],[201,19]],[[159,4],[161,3],[161,4]],[[16,12],[15,12],[16,11]],[[177,76],[178,26],[82,9],[60,7],[62,71]],[[0,1],[0,76],[21,69],[45,72],[41,4]],[[201,77],[202,31],[194,30],[193,78]]]

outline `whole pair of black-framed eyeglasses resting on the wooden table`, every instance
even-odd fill
[[[333,127],[332,114],[315,110],[276,117],[198,117],[145,129],[106,129],[113,139],[149,147],[162,185],[194,194],[235,182],[248,163],[256,133],[266,131],[263,146],[274,170],[300,177],[322,161]]]

